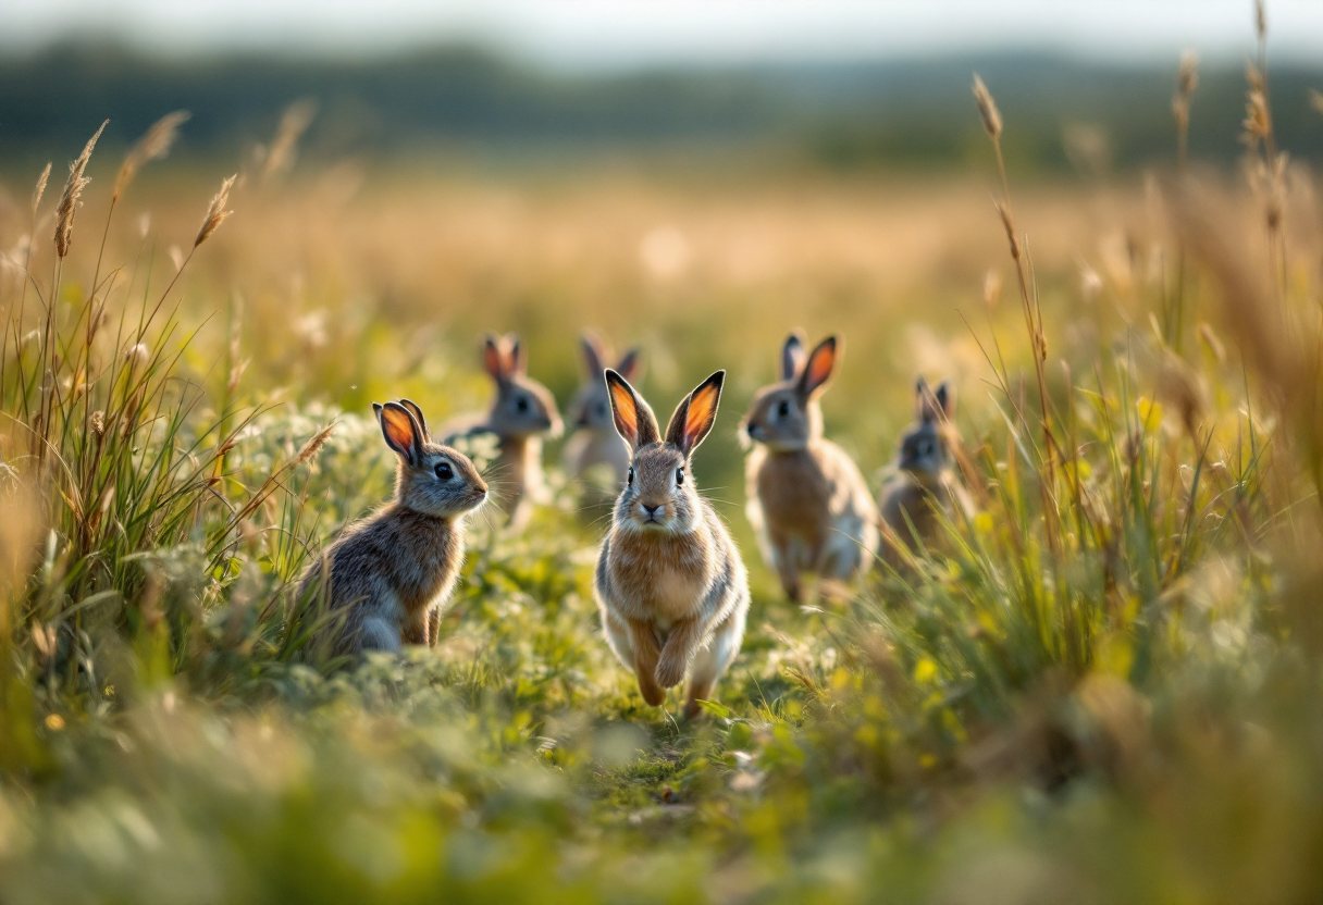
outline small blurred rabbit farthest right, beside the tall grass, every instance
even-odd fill
[[[951,468],[951,417],[955,389],[949,381],[933,390],[919,376],[914,385],[914,423],[901,437],[896,475],[882,487],[878,509],[884,529],[917,552],[938,540],[942,519],[972,516],[974,504]],[[896,565],[897,550],[884,552]]]

